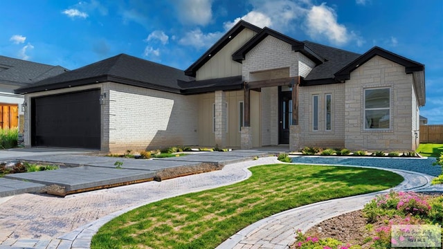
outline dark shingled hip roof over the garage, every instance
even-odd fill
[[[180,93],[178,80],[191,81],[183,71],[130,55],[120,54],[17,89],[16,93],[33,93],[82,86],[99,82],[117,82],[149,89]]]

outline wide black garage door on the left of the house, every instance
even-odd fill
[[[31,100],[33,146],[100,149],[100,90]]]

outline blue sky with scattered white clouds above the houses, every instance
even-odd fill
[[[425,64],[421,115],[443,124],[442,0],[2,0],[0,55],[72,70],[126,53],[184,70],[239,19]]]

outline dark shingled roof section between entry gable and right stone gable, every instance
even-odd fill
[[[315,42],[304,41],[303,43],[326,59],[323,64],[314,67],[305,77],[305,85],[325,81],[325,79],[330,79],[331,83],[334,82],[334,73],[361,56],[358,53],[332,48]]]

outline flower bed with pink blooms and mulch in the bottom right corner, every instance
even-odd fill
[[[363,210],[343,216],[346,218],[338,216],[330,219],[334,221],[324,221],[306,234],[298,231],[296,243],[291,248],[390,248],[392,244],[406,239],[401,236],[391,237],[392,225],[441,225],[443,196],[390,192],[376,196]],[[359,227],[349,225],[359,223],[359,220],[363,220]],[[347,223],[348,226],[341,226],[342,223]],[[332,227],[334,225],[335,228]],[[343,234],[354,236],[346,241],[343,240]]]

